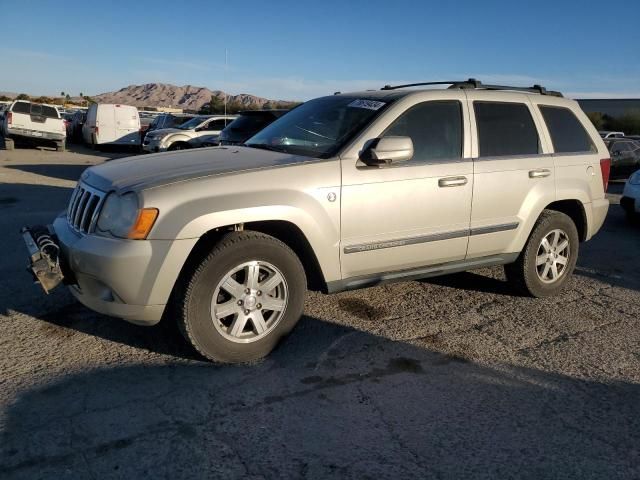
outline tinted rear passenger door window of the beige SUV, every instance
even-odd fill
[[[538,131],[523,103],[474,102],[481,157],[536,155]]]

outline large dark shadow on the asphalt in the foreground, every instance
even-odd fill
[[[483,366],[305,317],[252,365],[45,382],[12,400],[2,435],[6,479],[632,477],[640,386]]]

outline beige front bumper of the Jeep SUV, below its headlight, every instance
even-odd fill
[[[197,241],[82,235],[71,229],[64,214],[52,229],[71,293],[91,310],[139,325],[160,321]]]

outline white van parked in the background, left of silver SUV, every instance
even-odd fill
[[[84,141],[97,145],[140,145],[140,115],[131,105],[94,103],[82,127]]]

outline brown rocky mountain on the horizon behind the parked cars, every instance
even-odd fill
[[[93,95],[92,98],[100,103],[122,103],[135,105],[137,107],[174,107],[185,110],[199,110],[211,97],[224,99],[225,93],[220,90],[209,90],[206,87],[196,87],[184,85],[178,87],[168,83],[146,83],[144,85],[129,85],[121,88],[117,92],[101,93]],[[273,107],[274,104],[286,106],[291,102],[281,100],[269,100],[267,98],[256,97],[241,93],[239,95],[228,95],[227,102],[238,102],[247,109],[259,109]]]

